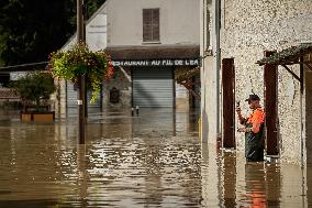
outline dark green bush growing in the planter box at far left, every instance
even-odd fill
[[[11,86],[20,95],[22,101],[35,102],[36,109],[41,101],[49,99],[51,94],[56,90],[51,73],[29,73],[20,79],[12,81]]]

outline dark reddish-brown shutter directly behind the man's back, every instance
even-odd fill
[[[268,57],[276,52],[265,51],[265,57]],[[278,131],[277,131],[277,66],[265,64],[264,66],[265,80],[265,112],[266,112],[266,151],[267,155],[278,155]]]

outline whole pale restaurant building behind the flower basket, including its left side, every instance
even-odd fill
[[[107,0],[86,23],[87,44],[104,48],[115,68],[98,106],[188,109],[194,103],[175,76],[199,65],[198,10],[199,2],[189,0]],[[64,50],[73,43],[75,36]],[[63,106],[75,107],[77,91],[63,85]]]

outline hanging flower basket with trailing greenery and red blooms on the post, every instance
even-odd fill
[[[113,76],[111,57],[104,51],[92,52],[85,43],[77,43],[68,51],[49,54],[49,69],[54,77],[73,81],[85,76],[87,89],[92,90],[91,103],[94,103],[103,80]]]

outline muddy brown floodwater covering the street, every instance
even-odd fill
[[[142,109],[0,119],[0,207],[308,207],[305,168],[202,145],[197,114]],[[309,173],[309,172],[308,172]]]

